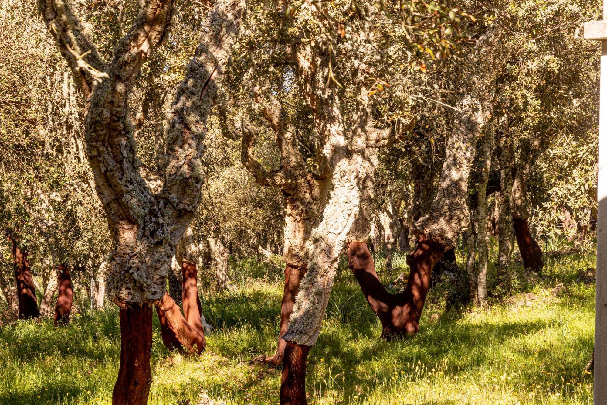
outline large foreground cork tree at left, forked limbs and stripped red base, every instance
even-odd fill
[[[110,63],[98,54],[69,1],[39,1],[39,12],[87,100],[87,156],[116,246],[106,283],[107,296],[120,308],[121,320],[114,404],[147,402],[151,306],[158,305],[178,331],[187,329],[186,322],[180,324],[183,316],[178,306],[166,296],[166,275],[200,201],[206,121],[237,40],[243,7],[239,0],[218,0],[212,5],[204,23],[209,29],[202,30],[172,103],[164,137],[166,152],[157,173],[151,173],[137,157],[128,101],[141,67],[168,30],[172,0],[141,2],[131,28],[115,44]],[[185,335],[177,333],[180,340],[191,337]],[[198,333],[193,336],[192,350],[202,350],[204,338]]]

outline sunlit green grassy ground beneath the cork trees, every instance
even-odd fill
[[[592,352],[595,288],[576,277],[593,263],[579,254],[550,259],[537,280],[513,267],[504,281],[490,269],[493,293],[509,295],[485,309],[446,310],[453,294],[443,283],[430,292],[419,333],[397,342],[378,339],[379,322],[342,269],[310,351],[310,403],[591,404],[592,375],[583,367]],[[233,269],[237,293],[205,294],[205,315],[217,328],[200,357],[168,353],[155,319],[150,403],[278,403],[280,372],[248,361],[276,347],[280,270],[243,262]],[[566,290],[555,294],[559,283]],[[64,328],[50,319],[4,322],[0,403],[109,403],[119,355],[114,308],[76,314]]]

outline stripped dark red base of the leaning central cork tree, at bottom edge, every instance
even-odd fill
[[[287,341],[280,379],[280,405],[306,405],[305,369],[310,346]]]

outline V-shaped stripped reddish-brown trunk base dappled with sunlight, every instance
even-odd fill
[[[432,269],[443,256],[443,252],[444,247],[441,244],[420,237],[415,251],[407,255],[407,264],[411,271],[405,291],[401,294],[390,294],[379,282],[367,243],[350,243],[348,266],[361,285],[371,309],[381,321],[382,338],[390,340],[419,330],[419,319],[430,286]]]

